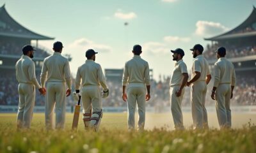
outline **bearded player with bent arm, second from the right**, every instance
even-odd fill
[[[207,111],[205,108],[205,96],[207,92],[207,84],[211,80],[209,64],[202,55],[204,47],[196,44],[190,50],[193,51],[193,66],[191,80],[187,82],[187,86],[191,85],[191,106],[194,129],[209,128]]]

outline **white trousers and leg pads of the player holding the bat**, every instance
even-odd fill
[[[102,98],[100,96],[100,88],[98,85],[84,86],[82,89],[82,102],[83,102],[83,119],[87,119],[84,122],[85,126],[96,127],[99,129],[100,119],[102,117]],[[92,110],[91,110],[92,108]],[[90,120],[91,115],[95,112],[101,112],[101,116],[98,121]],[[90,114],[90,115],[89,115]],[[92,116],[94,118],[94,115]],[[97,125],[95,125],[97,124]]]

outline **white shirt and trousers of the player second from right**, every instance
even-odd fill
[[[200,72],[200,78],[193,82],[191,86],[191,106],[192,118],[195,128],[208,128],[207,111],[205,108],[205,96],[207,92],[206,76],[210,75],[209,64],[203,55],[198,55],[193,60],[192,75],[195,77],[196,71]]]

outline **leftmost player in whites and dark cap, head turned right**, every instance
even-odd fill
[[[35,63],[32,61],[34,50],[31,45],[25,45],[22,48],[23,55],[15,65],[16,78],[19,82],[18,129],[30,128],[33,108],[35,106],[35,87],[41,94],[45,94],[45,89],[42,88],[36,80]]]

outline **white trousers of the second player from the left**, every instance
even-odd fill
[[[55,106],[56,128],[63,129],[66,111],[66,86],[65,82],[47,82],[45,101],[45,126],[53,129],[53,110]]]

